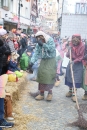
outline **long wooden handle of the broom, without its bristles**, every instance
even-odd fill
[[[70,49],[70,62],[72,62],[72,54],[71,54],[71,49]],[[74,80],[74,74],[73,74],[73,67],[72,64],[70,64],[70,69],[71,69],[71,75],[72,75],[72,82],[73,82],[73,88],[74,88],[74,93],[75,93],[75,98],[76,98],[76,105],[78,110],[80,109],[78,99],[77,99],[77,94],[76,94],[76,87],[75,87],[75,80]]]

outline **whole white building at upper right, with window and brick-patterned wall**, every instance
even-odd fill
[[[87,39],[87,1],[63,0],[61,17],[58,17],[61,37],[80,34]]]

